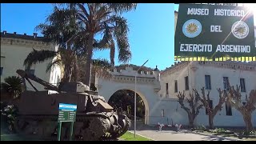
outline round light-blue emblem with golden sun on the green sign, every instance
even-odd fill
[[[182,26],[182,32],[188,38],[197,37],[202,31],[202,25],[196,19],[190,19]]]

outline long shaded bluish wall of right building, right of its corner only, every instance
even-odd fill
[[[218,91],[217,88],[223,90],[223,77],[228,77],[231,86],[240,85],[240,78],[245,78],[246,92],[241,92],[242,100],[246,98],[246,94],[250,94],[250,90],[256,90],[256,70],[234,70],[229,68],[214,67],[198,65],[196,74],[196,88],[200,90],[202,86],[205,86],[205,75],[210,75],[210,99],[213,100],[213,106],[218,104]],[[222,105],[221,111],[218,111],[216,118],[214,118],[214,124],[216,126],[244,126],[242,115],[232,107],[232,116],[226,115],[226,105]],[[207,119],[205,109],[202,109],[198,115],[197,122],[207,125],[204,119]],[[256,112],[252,114],[252,122],[256,122]]]

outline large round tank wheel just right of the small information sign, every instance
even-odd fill
[[[106,134],[106,119],[90,118],[90,120],[84,122],[81,130],[84,141],[98,141]]]

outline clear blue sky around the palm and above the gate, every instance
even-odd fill
[[[1,3],[1,32],[31,35],[52,8],[50,3]],[[149,59],[146,66],[164,70],[174,63],[174,10],[178,6],[173,3],[140,3],[136,10],[123,14],[130,26],[131,64],[142,65]],[[98,51],[94,58],[109,59],[109,54],[109,50]],[[118,54],[115,62],[120,64]]]

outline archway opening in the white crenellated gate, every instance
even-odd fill
[[[134,90],[117,90],[111,95],[108,103],[118,113],[126,114],[134,120]],[[144,124],[148,123],[148,103],[146,98],[137,92],[136,94],[136,119]]]

